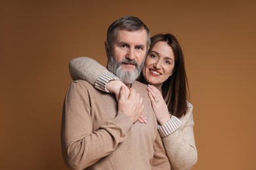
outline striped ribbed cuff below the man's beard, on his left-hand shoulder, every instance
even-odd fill
[[[106,84],[108,84],[110,80],[119,80],[119,78],[110,71],[103,73],[96,79],[95,88],[102,92],[111,93],[108,91],[108,89],[106,89]]]

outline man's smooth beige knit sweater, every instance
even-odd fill
[[[144,105],[150,105],[146,85],[134,82]],[[72,169],[170,169],[151,107],[147,124],[117,114],[114,95],[84,80],[70,84],[62,116],[62,153]]]

